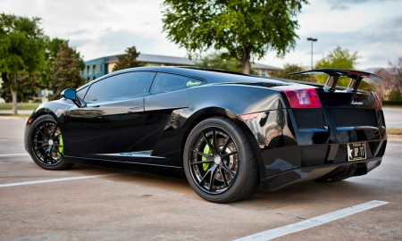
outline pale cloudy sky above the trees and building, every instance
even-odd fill
[[[136,46],[143,54],[186,56],[162,32],[162,0],[0,0],[0,12],[39,17],[49,37],[70,39],[84,60],[123,54]],[[386,68],[402,57],[402,0],[310,0],[297,15],[297,46],[283,59],[274,52],[260,62],[311,66],[336,46],[358,52],[356,69]]]

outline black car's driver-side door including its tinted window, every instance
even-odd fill
[[[93,83],[87,107],[72,106],[63,131],[66,155],[124,161],[134,150],[144,120],[144,97],[155,72],[127,72]]]

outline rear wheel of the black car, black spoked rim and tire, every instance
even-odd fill
[[[183,167],[190,186],[209,202],[236,202],[258,190],[253,147],[246,132],[228,118],[209,118],[191,130],[184,147]]]

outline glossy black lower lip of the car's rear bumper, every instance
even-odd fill
[[[301,167],[262,179],[260,190],[273,191],[291,184],[317,179],[346,179],[361,176],[377,168],[382,157],[373,157],[357,162],[338,162],[319,166]]]

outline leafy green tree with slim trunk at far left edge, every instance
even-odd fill
[[[17,93],[21,79],[40,72],[45,66],[45,41],[39,28],[40,18],[0,15],[0,72],[3,87],[9,87],[13,99],[13,114],[17,114]],[[32,80],[35,81],[35,80]]]

